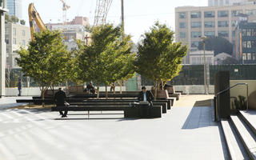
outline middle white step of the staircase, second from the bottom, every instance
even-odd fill
[[[250,159],[256,160],[256,142],[253,137],[254,134],[245,126],[241,119],[238,118],[238,115],[231,115],[230,119],[243,143],[243,146],[245,146]]]

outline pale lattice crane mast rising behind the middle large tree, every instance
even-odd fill
[[[112,0],[97,0],[94,16],[94,26],[105,24],[106,15],[110,10]]]

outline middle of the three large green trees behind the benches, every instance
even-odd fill
[[[92,42],[90,46],[80,46],[83,51],[78,58],[78,65],[82,70],[80,75],[83,81],[90,79],[99,89],[100,84],[108,86],[121,78],[120,74],[124,74],[121,70],[127,66],[125,60],[130,56],[132,44],[129,35],[122,36],[120,26],[107,24],[90,30]]]

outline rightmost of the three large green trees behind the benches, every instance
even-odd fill
[[[159,84],[170,81],[182,69],[187,46],[174,42],[174,32],[159,22],[155,22],[144,37],[142,44],[138,44],[135,66],[138,74],[154,81],[156,98]]]

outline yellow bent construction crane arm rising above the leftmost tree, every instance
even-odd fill
[[[29,6],[29,19],[30,19],[30,34],[32,40],[34,40],[34,32],[35,32],[35,25],[34,22],[38,25],[39,30],[46,30],[46,25],[42,22],[40,15],[38,14],[37,10],[34,8],[34,3],[30,3]]]

